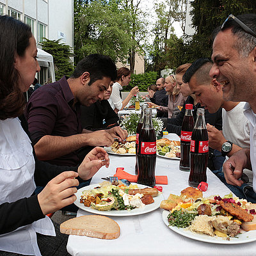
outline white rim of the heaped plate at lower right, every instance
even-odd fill
[[[206,243],[214,243],[214,244],[243,244],[243,243],[250,243],[253,241],[256,241],[256,230],[243,232],[242,234],[237,235],[237,237],[230,237],[230,241],[223,240],[221,237],[212,237],[207,236],[204,234],[196,234],[189,230],[185,230],[185,228],[178,228],[174,226],[169,226],[167,216],[170,212],[169,211],[163,211],[162,218],[164,221],[164,224],[172,229],[174,232],[180,234],[181,236],[185,236],[194,240],[206,242]]]

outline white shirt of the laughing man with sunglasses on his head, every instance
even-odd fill
[[[253,172],[253,190],[256,193],[256,115],[248,102],[244,105],[244,115],[250,122],[250,159]]]

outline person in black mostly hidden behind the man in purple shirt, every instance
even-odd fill
[[[118,115],[111,108],[108,99],[112,92],[113,81],[104,92],[103,100],[98,100],[90,107],[81,106],[81,122],[83,129],[97,131],[118,125]]]

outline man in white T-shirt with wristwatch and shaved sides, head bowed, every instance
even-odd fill
[[[202,68],[200,68],[202,67]],[[196,96],[196,100],[208,109],[209,113],[215,113],[222,108],[222,131],[214,126],[207,124],[209,136],[209,147],[221,152],[226,157],[232,156],[241,148],[250,147],[250,124],[243,115],[243,107],[245,102],[232,102],[223,99],[222,85],[215,78],[209,76],[209,70],[212,67],[212,61],[208,58],[200,58],[196,60],[190,70],[183,77],[185,82],[189,83],[189,88]],[[196,69],[198,68],[198,69]],[[252,189],[252,171],[244,170],[243,179],[247,179],[241,188],[227,184],[222,166],[219,170],[212,171],[228,188],[239,198],[255,203],[256,196],[253,198]]]

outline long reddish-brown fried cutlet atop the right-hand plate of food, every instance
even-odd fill
[[[221,200],[220,205],[225,211],[229,212],[233,216],[236,216],[240,220],[243,220],[243,221],[253,220],[252,214],[248,214],[246,210],[244,210],[242,207],[240,207],[236,203],[223,202],[223,200]]]

